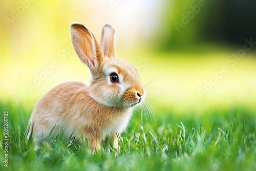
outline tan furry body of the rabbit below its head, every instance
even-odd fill
[[[99,142],[125,129],[132,109],[117,111],[100,104],[90,97],[89,89],[82,82],[65,82],[42,97],[32,114],[36,143],[46,139],[55,125],[53,137],[63,129],[65,138],[73,133],[74,137],[93,137]]]

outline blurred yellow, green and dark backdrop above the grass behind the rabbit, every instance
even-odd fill
[[[256,99],[253,1],[1,1],[2,102],[29,109],[65,81],[89,80],[76,57],[70,24],[100,39],[116,30],[117,57],[151,82],[150,101],[175,111],[245,106]]]

